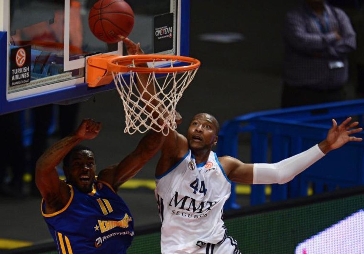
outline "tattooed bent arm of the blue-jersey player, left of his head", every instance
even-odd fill
[[[84,119],[74,134],[55,143],[37,160],[35,183],[48,207],[58,208],[65,205],[70,198],[69,188],[67,184],[59,180],[56,166],[82,140],[94,139],[100,128],[101,123]]]

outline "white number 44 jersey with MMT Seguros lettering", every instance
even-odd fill
[[[163,254],[199,253],[207,243],[223,242],[223,205],[230,196],[231,181],[214,152],[205,163],[196,165],[189,150],[174,167],[156,178]]]

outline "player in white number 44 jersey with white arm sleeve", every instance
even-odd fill
[[[353,129],[358,122],[350,121],[338,126],[333,119],[327,138],[298,155],[274,164],[245,164],[230,156],[217,157],[211,151],[218,140],[217,120],[206,113],[195,115],[187,138],[177,131],[167,136],[156,169],[162,253],[240,253],[222,221],[230,183],[287,183],[329,151],[361,141],[350,135],[363,129]]]

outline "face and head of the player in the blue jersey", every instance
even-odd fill
[[[90,193],[95,181],[95,156],[88,150],[73,153],[68,167],[64,167],[67,182],[80,192]]]

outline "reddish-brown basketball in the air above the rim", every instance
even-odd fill
[[[90,10],[88,26],[99,40],[116,43],[133,29],[134,12],[123,0],[99,0]]]

